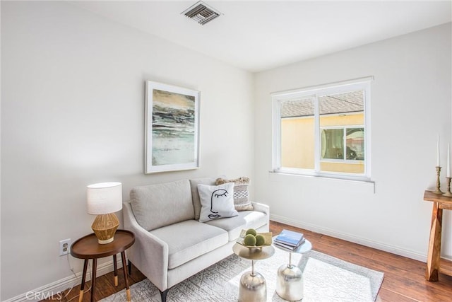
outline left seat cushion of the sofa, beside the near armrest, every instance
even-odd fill
[[[179,267],[228,242],[227,231],[196,220],[156,228],[150,233],[168,244],[168,269]]]

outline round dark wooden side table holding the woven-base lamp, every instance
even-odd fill
[[[83,290],[85,289],[86,269],[88,260],[93,260],[93,272],[91,276],[91,302],[94,302],[94,292],[96,286],[97,259],[113,256],[114,265],[114,286],[118,286],[118,269],[116,255],[121,253],[122,269],[124,272],[124,281],[126,282],[127,301],[131,301],[129,279],[126,271],[126,250],[135,243],[135,235],[131,231],[117,230],[114,234],[114,240],[111,243],[99,244],[95,233],[84,236],[71,245],[71,255],[73,257],[84,259],[83,277],[80,287],[80,296],[78,301],[83,300]]]

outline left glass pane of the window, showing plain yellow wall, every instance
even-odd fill
[[[281,102],[281,165],[314,169],[314,99]]]

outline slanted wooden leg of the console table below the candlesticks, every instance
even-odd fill
[[[441,223],[443,220],[443,209],[439,208],[438,202],[433,203],[432,225],[430,226],[429,250],[427,254],[427,271],[425,279],[438,281],[439,261],[441,256]]]

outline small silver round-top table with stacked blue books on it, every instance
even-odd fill
[[[276,294],[288,301],[300,301],[303,298],[303,273],[297,265],[292,265],[292,252],[304,254],[312,249],[309,240],[295,250],[288,250],[280,245],[273,244],[275,248],[289,252],[289,264],[281,265],[278,269],[278,278],[276,280]]]

